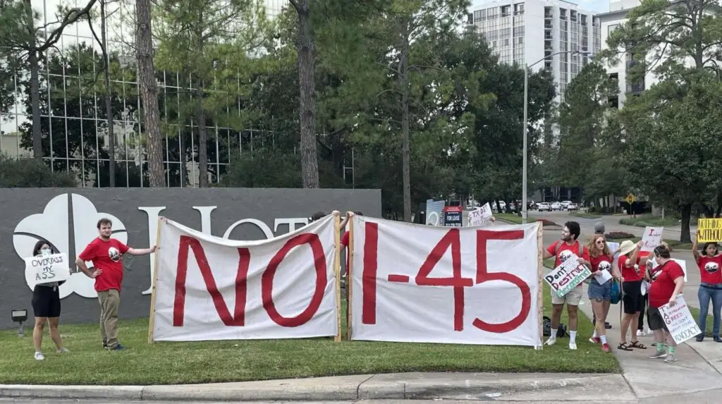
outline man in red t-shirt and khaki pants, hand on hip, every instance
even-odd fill
[[[113,351],[125,349],[118,343],[118,307],[121,304],[121,284],[123,283],[123,260],[125,253],[145,255],[155,253],[157,247],[135,249],[111,239],[113,222],[110,219],[97,221],[98,237],[92,240],[75,260],[80,271],[95,279],[95,291],[100,302],[100,335],[103,348]],[[95,271],[90,271],[86,261],[92,261]]]

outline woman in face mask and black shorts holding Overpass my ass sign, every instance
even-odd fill
[[[39,240],[32,248],[33,257],[48,257],[58,253],[46,240]],[[70,271],[68,269],[68,271]],[[35,315],[35,328],[32,329],[32,345],[35,346],[35,360],[42,361],[45,359],[43,355],[43,330],[45,323],[50,325],[50,338],[55,343],[58,354],[68,352],[63,346],[60,338],[60,330],[58,330],[58,321],[60,320],[60,290],[58,286],[64,284],[65,281],[50,282],[48,284],[36,284],[32,289],[32,312]]]

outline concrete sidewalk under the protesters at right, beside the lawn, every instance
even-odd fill
[[[589,299],[584,291],[583,304],[580,309],[592,318],[592,309]],[[640,400],[649,398],[664,398],[668,396],[684,396],[692,393],[700,395],[705,392],[710,397],[716,397],[716,403],[722,399],[722,343],[716,343],[711,338],[705,338],[698,343],[694,339],[677,347],[677,362],[666,364],[661,359],[648,359],[656,347],[652,346],[654,338],[651,335],[638,337],[647,349],[634,349],[621,351],[617,349],[621,339],[619,326],[619,304],[613,304],[609,310],[607,321],[612,325],[606,330],[609,346],[612,353],[617,356],[622,366],[622,375]],[[645,319],[645,327],[646,327]],[[634,332],[637,326],[633,325]],[[590,338],[591,335],[578,335],[578,338]],[[631,340],[627,333],[627,343]],[[601,348],[601,347],[600,347]],[[686,399],[686,396],[684,396]],[[696,401],[700,403],[705,401]]]

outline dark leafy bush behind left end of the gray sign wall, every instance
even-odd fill
[[[0,155],[0,188],[71,188],[77,185],[77,177],[67,172],[52,172],[39,159]]]

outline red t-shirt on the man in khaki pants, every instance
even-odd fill
[[[103,271],[95,278],[95,291],[121,290],[121,284],[123,283],[121,255],[127,253],[128,250],[127,245],[116,239],[103,241],[100,237],[97,237],[80,253],[79,258],[81,260],[92,261],[95,269]]]

